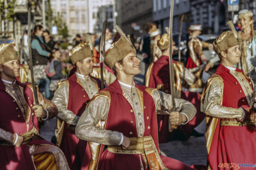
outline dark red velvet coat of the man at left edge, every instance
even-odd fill
[[[15,102],[6,91],[2,79],[0,78],[0,128],[10,133],[22,135],[27,131],[31,131],[35,127],[39,131],[38,118],[32,113],[34,112],[33,105],[34,97],[31,88],[27,84],[17,83],[23,87],[25,100],[30,109],[30,118],[26,123],[23,118],[19,105]],[[27,129],[28,126],[28,129]],[[41,138],[34,138],[27,144],[22,144],[21,147],[4,146],[0,144],[0,167],[1,169],[34,170],[34,163],[28,151],[28,144],[51,144]]]

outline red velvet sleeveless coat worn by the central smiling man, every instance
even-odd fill
[[[151,135],[153,137],[155,146],[157,148],[157,152],[159,152],[159,142],[157,136],[157,118],[156,118],[156,108],[153,97],[145,91],[145,86],[136,85],[136,87],[143,93],[143,114],[144,114],[144,123],[145,123],[145,131],[143,136]],[[132,106],[127,101],[127,99],[123,96],[123,90],[121,89],[118,80],[115,80],[114,83],[106,87],[103,91],[108,91],[111,95],[111,102],[108,111],[108,116],[106,120],[105,129],[114,130],[120,133],[123,133],[124,136],[127,137],[138,137],[137,129],[136,129],[136,119],[134,112],[131,112]],[[147,118],[148,117],[148,118]],[[133,121],[134,123],[132,123]],[[150,128],[148,128],[150,127]],[[141,169],[141,162],[139,154],[114,154],[108,152],[107,149],[104,149],[105,146],[101,145],[99,150],[99,163],[96,169],[105,169],[105,170],[117,170],[117,169]],[[84,162],[82,169],[88,169],[88,159],[91,156],[90,148],[86,148],[86,153],[84,156]],[[95,150],[94,150],[95,151]],[[86,158],[86,156],[88,158]],[[169,169],[193,169],[186,166],[184,163],[174,160],[171,158],[167,158],[165,156],[160,155],[164,166]],[[95,161],[97,158],[93,158]],[[92,161],[92,160],[91,160]],[[144,169],[145,163],[142,159]]]

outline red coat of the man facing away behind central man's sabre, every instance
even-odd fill
[[[173,60],[173,64],[177,61]],[[181,87],[181,78],[179,71],[174,71],[175,87]],[[156,62],[154,62],[150,79],[149,87],[157,88],[157,85],[163,85],[162,91],[170,94],[170,77],[169,77],[169,56],[162,55]],[[169,132],[169,118],[166,115],[157,115],[157,124],[159,126],[159,142],[164,143],[173,139],[188,140],[192,130],[200,124],[205,115],[200,112],[200,94],[190,91],[181,91],[180,97],[182,99],[188,100],[194,106],[196,106],[197,114],[194,118],[188,122],[186,125],[179,125],[178,129],[173,130],[172,133]]]

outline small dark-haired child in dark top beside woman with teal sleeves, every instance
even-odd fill
[[[53,95],[53,92],[56,90],[58,83],[66,79],[66,76],[62,73],[62,63],[59,61],[59,59],[60,59],[59,49],[53,49],[50,65],[54,68],[55,74],[52,75],[51,77],[51,84],[50,84],[51,95]]]

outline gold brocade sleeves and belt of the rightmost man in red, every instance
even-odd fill
[[[243,92],[247,98],[248,104],[253,106],[253,90],[249,86],[248,81],[242,73],[230,71],[241,85]],[[218,120],[221,118],[221,125],[249,125],[254,123],[254,114],[246,115],[245,121],[239,122],[236,118],[243,115],[242,109],[228,108],[222,105],[223,100],[223,79],[220,75],[213,74],[205,86],[202,93],[201,101],[204,105],[204,112],[206,114],[206,147],[208,153],[210,152],[212,138],[214,137],[215,129]]]

